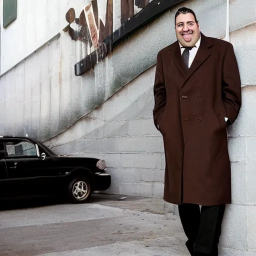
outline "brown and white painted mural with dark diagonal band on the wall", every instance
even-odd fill
[[[124,38],[164,11],[183,0],[119,0],[120,26],[113,31],[113,0],[91,0],[79,16],[73,8],[66,12],[69,23],[64,31],[73,40],[87,45],[87,55],[74,65],[75,75],[81,75],[102,60]]]

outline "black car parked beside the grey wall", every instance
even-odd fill
[[[105,161],[64,156],[28,137],[0,136],[0,198],[58,194],[84,202],[110,186]]]

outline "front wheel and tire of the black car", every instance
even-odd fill
[[[68,197],[73,203],[83,203],[91,195],[91,185],[86,177],[75,177],[68,184]]]

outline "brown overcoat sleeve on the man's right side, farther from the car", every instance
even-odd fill
[[[232,124],[241,106],[241,81],[233,46],[228,43],[223,60],[222,102],[229,124]]]

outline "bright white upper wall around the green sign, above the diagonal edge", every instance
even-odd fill
[[[89,0],[17,1],[16,20],[5,29],[1,22],[0,73],[15,66],[61,31],[67,25],[65,13],[70,7],[78,13],[88,2]],[[2,16],[2,0],[0,6]]]

